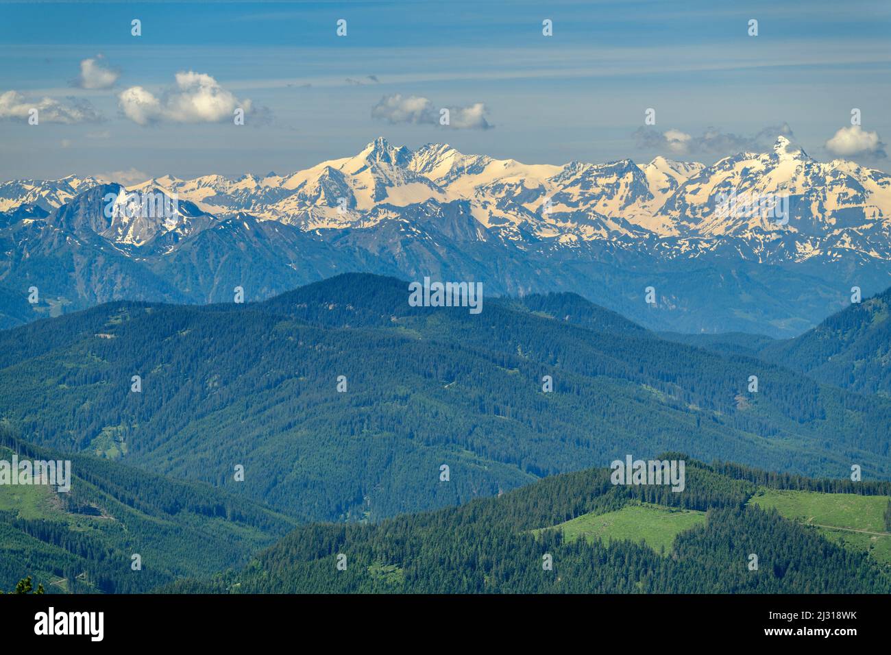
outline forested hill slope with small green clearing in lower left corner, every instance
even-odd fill
[[[0,425],[0,460],[71,461],[71,488],[0,485],[0,588],[30,575],[47,593],[145,592],[239,566],[293,523],[208,485],[84,454],[59,454]],[[141,557],[134,570],[132,556]]]

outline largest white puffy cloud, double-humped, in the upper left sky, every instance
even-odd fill
[[[148,125],[160,121],[173,123],[217,123],[233,119],[236,109],[245,115],[252,110],[249,100],[240,100],[204,73],[176,73],[176,87],[160,97],[142,86],[131,86],[118,95],[124,115]]]

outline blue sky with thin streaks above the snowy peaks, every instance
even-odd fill
[[[891,168],[889,34],[880,0],[0,3],[0,178],[286,173],[378,135],[534,163],[710,162],[781,128],[818,159]],[[83,88],[85,60],[110,78]],[[222,94],[216,114],[183,108],[190,71]],[[159,109],[127,113],[134,87]],[[30,106],[47,108],[37,126]],[[60,107],[80,111],[53,122]],[[440,126],[443,107],[465,119]],[[828,146],[852,108],[862,127]]]

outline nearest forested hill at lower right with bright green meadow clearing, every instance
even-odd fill
[[[891,484],[691,460],[686,479],[683,492],[674,493],[661,486],[614,486],[605,469],[579,471],[372,525],[301,526],[241,572],[177,581],[164,591],[891,593],[888,569],[870,555],[748,504],[758,488],[820,491],[826,499],[882,495],[878,500],[885,503]],[[668,538],[654,547],[666,531]]]

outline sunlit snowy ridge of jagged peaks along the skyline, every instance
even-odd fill
[[[712,179],[718,173],[724,174],[723,180]],[[758,173],[760,179],[756,175],[747,176],[747,173]],[[355,211],[367,211],[381,201],[405,206],[429,200],[471,201],[475,216],[482,216],[484,210],[494,218],[504,218],[513,212],[511,222],[518,225],[524,219],[540,214],[540,205],[547,197],[552,200],[551,207],[545,212],[548,214],[561,216],[585,211],[589,215],[606,218],[625,217],[632,225],[659,237],[683,235],[702,238],[721,236],[727,233],[729,226],[732,227],[732,224],[716,225],[707,219],[707,215],[715,210],[713,191],[730,191],[728,183],[732,180],[738,183],[735,186],[740,193],[813,194],[820,189],[818,184],[814,184],[814,179],[825,180],[831,174],[848,176],[853,183],[875,184],[871,184],[872,188],[858,185],[856,191],[859,196],[851,199],[846,207],[843,207],[844,199],[837,197],[829,202],[829,206],[822,208],[825,210],[823,213],[812,212],[814,216],[822,218],[826,211],[859,207],[867,220],[891,219],[891,176],[846,160],[827,163],[812,160],[783,135],[778,136],[772,151],[766,153],[741,152],[711,165],[668,160],[660,155],[642,166],[633,160],[601,164],[571,161],[562,166],[523,164],[516,160],[495,160],[486,155],[465,155],[447,143],[426,143],[411,151],[405,146],[393,146],[379,136],[353,157],[326,160],[286,176],[205,175],[185,180],[167,175],[132,184],[127,189],[142,191],[157,186],[161,191],[176,193],[180,198],[194,202],[209,214],[228,215],[246,211],[260,219],[294,223],[305,229],[356,225],[356,220],[361,222],[361,219],[354,215]],[[347,217],[336,215],[338,199],[331,197],[331,194],[309,192],[320,184],[324,186],[323,181],[331,180],[331,175],[337,176],[337,181],[343,183],[339,191],[346,194]],[[658,178],[659,175],[661,178]],[[15,209],[22,204],[39,204],[43,209],[56,209],[78,190],[83,191],[99,182],[93,177],[76,176],[54,181],[13,180],[0,184],[0,211]],[[412,199],[408,197],[411,193],[400,189],[416,184],[426,186],[428,194]],[[691,201],[692,194],[702,195],[704,184],[710,184],[710,188],[706,189],[708,202]],[[249,194],[251,191],[255,192],[253,196]],[[19,192],[18,197],[15,196],[16,192]],[[830,193],[828,186],[824,193]],[[291,199],[290,202],[288,199]],[[658,207],[652,202],[657,199],[660,200],[656,203]],[[665,216],[660,216],[659,212],[666,205],[671,209],[666,210]],[[808,213],[804,207],[799,209],[803,215]],[[313,210],[315,220],[310,220],[306,214]],[[641,222],[644,213],[649,217]],[[319,223],[321,216],[330,219],[330,222]],[[771,233],[788,231],[782,230],[782,225],[772,225],[762,218],[757,217],[745,226],[748,229],[759,227]],[[659,229],[657,219],[668,221],[664,224],[665,230]],[[496,225],[495,222],[481,223]],[[544,225],[553,228],[556,224],[545,220]],[[739,230],[740,226],[732,229]],[[794,226],[791,225],[789,230]],[[544,229],[538,225],[536,228]],[[563,234],[569,233],[573,232],[565,231]],[[580,238],[596,237],[596,234],[585,233],[584,230],[576,232],[576,235]],[[803,252],[799,256],[807,258],[813,254]],[[883,257],[887,258],[887,252],[883,253]]]

